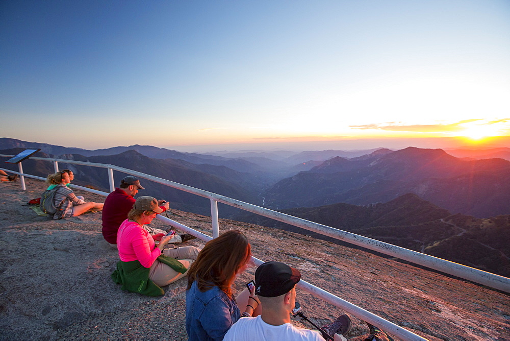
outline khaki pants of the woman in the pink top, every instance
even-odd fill
[[[194,246],[184,246],[181,248],[175,249],[163,249],[163,253],[165,256],[175,258],[183,263],[186,266],[186,269],[189,269],[191,264],[196,260],[196,256],[198,255],[198,250]],[[149,278],[152,282],[156,283],[158,286],[165,286],[176,280],[183,278],[186,276],[188,272],[181,274],[173,270],[170,266],[163,264],[159,260],[155,260],[149,270]]]

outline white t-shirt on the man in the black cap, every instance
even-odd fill
[[[261,316],[256,318],[241,318],[227,331],[224,341],[299,341],[315,340],[324,341],[321,333],[316,330],[298,329],[290,323],[280,326],[272,326],[265,323]]]

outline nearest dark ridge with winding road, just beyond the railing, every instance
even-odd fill
[[[387,203],[367,206],[341,203],[280,211],[483,271],[510,276],[510,215],[483,219],[451,215],[411,193]],[[243,212],[234,219],[347,245],[257,214]]]

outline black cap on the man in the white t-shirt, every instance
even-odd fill
[[[301,279],[301,273],[281,262],[266,262],[255,272],[255,293],[262,297],[287,294]]]

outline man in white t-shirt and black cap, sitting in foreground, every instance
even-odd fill
[[[260,299],[262,314],[252,318],[243,313],[225,334],[223,340],[316,340],[324,341],[320,332],[300,329],[290,323],[290,313],[296,302],[296,284],[301,279],[297,269],[281,262],[266,262],[255,272],[255,293]],[[341,315],[334,323],[322,327],[336,340],[346,340],[341,334],[349,331],[348,315]]]

